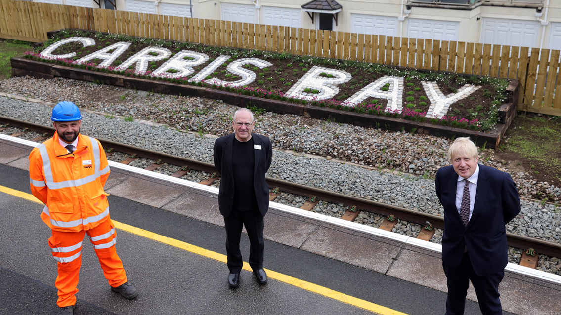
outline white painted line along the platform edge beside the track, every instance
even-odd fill
[[[39,143],[36,143],[36,142],[33,142],[33,141],[20,139],[20,138],[8,136],[8,135],[3,135],[2,133],[0,133],[0,139],[4,139],[4,140],[20,143],[22,145],[32,146],[32,147],[36,147],[36,146],[39,145]],[[175,178],[175,177],[171,177],[171,176],[160,174],[160,173],[150,172],[148,170],[136,168],[135,166],[121,164],[121,163],[117,163],[117,162],[113,162],[113,161],[108,161],[108,162],[109,162],[109,168],[122,169],[122,170],[126,170],[128,172],[136,173],[136,174],[143,175],[143,176],[146,176],[146,177],[160,179],[160,180],[163,180],[165,182],[171,182],[171,183],[175,183],[175,184],[178,184],[178,185],[181,185],[181,186],[195,188],[197,190],[201,190],[201,191],[205,191],[205,192],[209,192],[209,193],[218,194],[218,191],[219,191],[219,189],[216,188],[216,187],[202,185],[202,184],[199,184],[199,183],[191,182],[190,180]],[[391,239],[391,240],[394,240],[394,241],[397,241],[397,242],[402,242],[404,244],[413,245],[415,247],[420,247],[420,248],[424,248],[424,249],[429,249],[430,251],[436,251],[436,252],[442,253],[442,245],[440,245],[440,244],[430,243],[430,242],[426,242],[424,240],[419,240],[419,239],[416,239],[416,238],[407,237],[405,235],[401,235],[401,234],[393,233],[393,232],[390,232],[390,231],[385,231],[385,230],[381,230],[381,229],[378,229],[378,228],[374,228],[373,226],[358,224],[358,223],[354,223],[354,222],[351,222],[351,221],[339,219],[337,217],[331,217],[331,216],[327,216],[327,215],[323,215],[323,214],[318,214],[316,212],[305,211],[305,210],[301,210],[301,209],[298,209],[298,208],[295,208],[295,207],[282,205],[282,204],[276,203],[276,202],[269,202],[269,207],[271,207],[275,210],[280,210],[280,211],[284,211],[284,212],[287,212],[287,213],[308,217],[310,219],[316,219],[316,220],[319,220],[319,221],[328,222],[328,223],[331,223],[331,224],[334,224],[334,225],[342,226],[344,228],[357,230],[357,231],[362,231],[362,232],[369,233],[369,234],[372,234],[372,235],[376,235],[376,236],[379,236],[379,237],[388,238],[388,239]],[[555,275],[555,274],[550,274],[549,272],[545,272],[545,271],[541,271],[541,270],[536,270],[536,269],[516,265],[514,263],[508,263],[507,267],[505,267],[505,270],[506,271],[511,271],[511,272],[516,272],[517,274],[522,274],[522,275],[525,275],[525,276],[528,276],[528,277],[534,277],[534,278],[540,279],[540,280],[555,282],[555,283],[561,285],[561,276]]]

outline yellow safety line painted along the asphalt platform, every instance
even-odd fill
[[[0,192],[4,192],[7,194],[11,194],[12,196],[17,196],[20,198],[24,198],[29,201],[37,202],[43,205],[43,202],[40,202],[33,194],[17,191],[16,189],[0,186]],[[221,261],[226,263],[227,257],[224,254],[220,254],[217,252],[209,251],[208,249],[204,249],[202,247],[198,247],[195,245],[191,245],[189,243],[181,242],[181,240],[164,237],[163,235],[156,234],[147,230],[143,230],[140,228],[136,228],[135,226],[124,224],[113,220],[113,224],[117,229],[127,231],[132,234],[140,235],[141,237],[157,240],[160,243],[164,243],[167,245],[172,245],[177,248],[185,249],[188,252],[192,252],[195,254],[199,254],[200,256],[212,258],[213,260]],[[249,263],[243,262],[243,269],[252,271]],[[374,313],[378,313],[380,315],[407,315],[406,313],[394,311],[391,308],[383,307],[382,305],[374,304],[362,299],[358,299],[355,297],[351,297],[351,295],[347,295],[344,293],[340,293],[334,291],[332,289],[325,288],[323,286],[313,284],[308,281],[296,279],[295,277],[287,276],[284,274],[280,274],[280,272],[276,272],[273,270],[265,269],[267,272],[267,277],[269,279],[275,279],[293,286],[297,288],[301,288],[304,290],[308,290],[324,297],[332,298],[347,304],[354,305],[356,307],[364,308],[368,311],[372,311]]]

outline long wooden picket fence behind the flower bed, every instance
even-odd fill
[[[399,38],[222,20],[0,0],[0,38],[41,42],[78,28],[231,48],[352,59],[518,79],[519,110],[561,115],[559,50]]]

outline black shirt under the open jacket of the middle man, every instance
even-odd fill
[[[253,183],[255,153],[253,138],[240,142],[234,138],[232,169],[234,172],[233,209],[251,211],[257,209],[257,198]]]

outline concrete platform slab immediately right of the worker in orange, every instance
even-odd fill
[[[136,177],[129,177],[106,191],[157,208],[183,193],[181,189]]]

